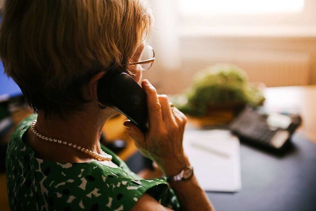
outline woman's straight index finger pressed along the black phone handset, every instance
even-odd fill
[[[157,131],[163,126],[161,105],[157,96],[157,90],[148,80],[142,81],[142,87],[147,94],[149,128]]]

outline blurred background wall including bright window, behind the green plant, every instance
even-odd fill
[[[267,86],[316,84],[315,0],[150,0],[156,51],[145,73],[161,92],[188,87],[216,63]]]

